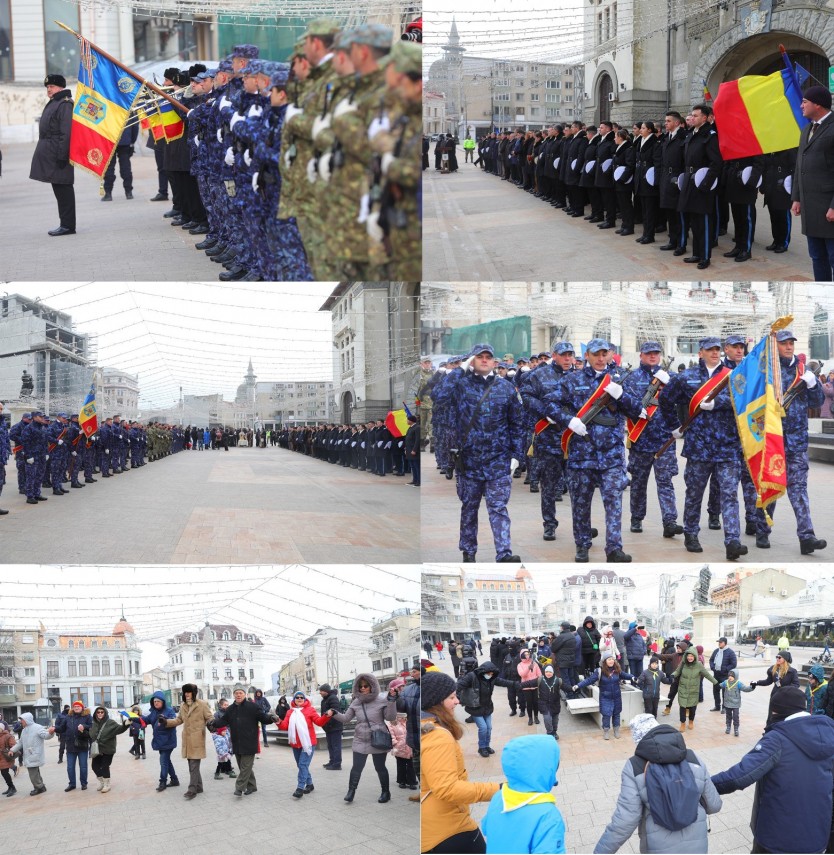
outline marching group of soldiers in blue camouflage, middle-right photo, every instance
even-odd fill
[[[825,549],[817,537],[808,499],[808,419],[824,401],[825,378],[795,352],[790,329],[776,333],[785,413],[787,498],[796,517],[798,552]],[[591,525],[591,502],[599,489],[605,511],[606,560],[629,562],[623,549],[623,491],[628,488],[629,531],[639,536],[648,514],[647,490],[654,474],[664,538],[683,535],[689,553],[703,552],[701,509],[707,500],[710,529],[723,528],[725,555],[748,554],[742,533],[757,549],[770,548],[775,503],[756,507],[726,378],[747,353],[744,335],[699,341],[698,361],[672,370],[657,341],[640,343],[639,364],[618,364],[613,345],[594,338],[584,358],[569,341],[554,341],[551,353],[496,359],[490,344],[455,356],[427,371],[423,398],[430,396],[437,468],[455,478],[461,503],[459,549],[464,562],[478,550],[478,509],[485,499],[498,562],[518,562],[507,508],[514,479],[540,494],[542,537],[556,540],[557,505],[570,495],[575,561],[586,563],[599,532]],[[673,479],[676,441],[686,464],[682,517]],[[741,486],[744,524],[740,520]],[[680,519],[680,521],[679,521]],[[682,523],[682,524],[681,524]],[[558,557],[558,553],[554,555]]]

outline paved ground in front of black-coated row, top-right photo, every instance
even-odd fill
[[[798,222],[789,250],[782,255],[766,252],[770,243],[770,218],[757,209],[753,258],[743,264],[724,258],[732,249],[733,226],[713,250],[712,264],[693,271],[671,252],[634,243],[613,231],[566,217],[562,211],[525,193],[514,184],[463,162],[458,172],[441,175],[433,166],[423,172],[426,204],[423,216],[423,279],[440,281],[550,281],[669,280],[689,281],[697,272],[702,281],[796,280],[813,278],[811,260]],[[586,208],[586,211],[589,211]],[[691,241],[689,244],[692,246]]]

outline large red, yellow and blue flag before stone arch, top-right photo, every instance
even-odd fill
[[[724,160],[785,151],[799,145],[808,124],[802,115],[802,92],[787,54],[786,67],[766,76],[748,75],[718,87],[715,124]]]

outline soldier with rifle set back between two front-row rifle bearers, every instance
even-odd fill
[[[660,342],[643,342],[640,347],[639,367],[623,381],[623,389],[640,399],[641,407],[646,410],[645,419],[629,419],[626,424],[629,439],[628,473],[631,475],[631,531],[635,534],[643,531],[649,475],[654,471],[657,500],[663,520],[663,536],[674,537],[676,534],[683,534],[683,526],[678,525],[678,508],[675,488],[672,485],[672,478],[678,474],[678,457],[674,444],[655,459],[656,452],[672,436],[672,431],[657,405],[670,380],[669,373],[660,367],[662,353]]]

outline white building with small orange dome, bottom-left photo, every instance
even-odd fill
[[[124,708],[142,698],[142,651],[124,615],[109,633],[45,630],[39,654],[55,711],[77,699],[92,709]]]

